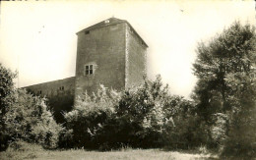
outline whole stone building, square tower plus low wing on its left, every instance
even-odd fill
[[[125,20],[107,19],[77,32],[76,74],[73,78],[27,86],[49,99],[56,120],[70,111],[79,97],[91,95],[99,84],[116,90],[143,82],[148,45]]]

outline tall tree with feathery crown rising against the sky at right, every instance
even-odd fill
[[[226,78],[230,74],[253,72],[256,61],[255,28],[235,22],[209,43],[201,42],[194,74],[199,79],[193,98],[199,113],[207,120],[213,113],[230,109],[227,95],[233,90]]]

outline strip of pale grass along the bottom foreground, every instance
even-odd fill
[[[0,159],[56,159],[56,160],[190,160],[190,159],[218,159],[210,154],[185,153],[178,151],[162,151],[160,149],[123,149],[118,151],[87,151],[84,149],[45,150],[33,146],[30,150],[12,150],[0,152]]]

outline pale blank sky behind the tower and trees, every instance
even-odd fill
[[[75,76],[76,32],[114,16],[149,45],[149,78],[160,74],[171,93],[189,98],[197,43],[235,20],[255,25],[255,2],[1,2],[0,14],[0,63],[19,71],[19,87]]]

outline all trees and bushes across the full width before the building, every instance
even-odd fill
[[[15,75],[0,64],[0,140],[2,149],[9,146],[1,156],[9,154],[15,158],[15,153],[21,151],[12,148],[21,140],[46,149],[68,149],[41,150],[52,156],[62,152],[68,157],[70,148],[109,151],[124,146],[169,150],[201,147],[216,150],[223,159],[253,159],[256,157],[255,44],[255,28],[235,22],[209,43],[199,43],[194,64],[198,82],[193,100],[170,94],[160,76],[121,92],[101,86],[94,96],[85,93],[73,110],[64,114],[66,122],[62,125],[54,121],[45,99],[15,88],[12,81]],[[147,156],[160,153],[166,159],[172,158],[172,152],[151,151]],[[24,149],[20,155],[38,159],[44,156],[40,151],[34,152],[35,155]],[[80,152],[84,155],[84,150],[78,150],[77,154]],[[144,156],[147,150],[128,152],[129,156],[137,153]],[[113,153],[96,152],[96,155]]]

